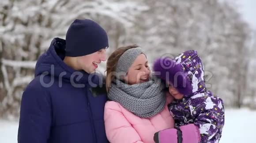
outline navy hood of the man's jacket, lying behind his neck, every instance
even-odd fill
[[[95,74],[88,74],[84,71],[76,71],[64,63],[66,41],[60,38],[54,38],[49,49],[42,54],[35,67],[35,76],[50,75],[62,79],[66,82],[88,83],[94,80]],[[89,79],[91,77],[91,79]]]

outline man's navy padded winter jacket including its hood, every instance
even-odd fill
[[[63,62],[65,40],[53,39],[39,57],[35,78],[26,87],[20,111],[18,143],[107,143],[106,95],[93,95],[99,77],[75,71]]]

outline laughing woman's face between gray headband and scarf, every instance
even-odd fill
[[[147,82],[149,75],[150,69],[147,57],[144,54],[140,54],[128,69],[127,75],[124,77],[124,81],[130,85]]]

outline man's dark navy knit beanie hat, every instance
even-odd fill
[[[76,19],[68,28],[66,34],[66,56],[84,56],[108,46],[107,33],[98,23],[92,20]]]

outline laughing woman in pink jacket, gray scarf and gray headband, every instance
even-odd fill
[[[138,46],[114,51],[107,61],[104,121],[110,143],[154,143],[154,133],[173,128],[161,79],[150,76],[146,55]]]

